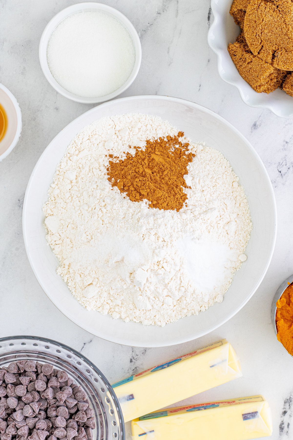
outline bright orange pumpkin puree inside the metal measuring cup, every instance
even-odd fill
[[[287,287],[276,305],[277,338],[293,356],[293,283]]]

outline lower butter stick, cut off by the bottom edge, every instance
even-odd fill
[[[156,411],[131,422],[133,440],[249,440],[271,436],[263,396]]]

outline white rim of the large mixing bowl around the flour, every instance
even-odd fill
[[[51,302],[55,305],[55,307],[57,307],[58,310],[60,310],[60,312],[63,313],[63,315],[65,315],[68,319],[70,319],[73,323],[75,323],[75,324],[76,324],[77,326],[79,326],[80,328],[83,328],[84,330],[88,331],[90,334],[94,334],[94,336],[101,337],[102,339],[105,339],[106,341],[115,342],[116,344],[127,345],[127,346],[133,346],[133,347],[155,348],[155,347],[167,347],[167,346],[170,346],[170,345],[182,344],[182,343],[184,343],[184,342],[193,341],[194,339],[198,339],[199,337],[202,337],[202,336],[204,336],[204,335],[206,335],[206,334],[209,334],[209,333],[212,332],[213,330],[216,330],[218,327],[220,327],[220,326],[222,326],[224,323],[226,323],[229,319],[231,319],[233,316],[235,316],[236,313],[238,313],[239,310],[242,309],[242,307],[245,306],[245,304],[250,300],[250,298],[253,296],[253,294],[257,291],[257,289],[258,289],[258,287],[260,286],[260,283],[262,282],[262,280],[264,279],[264,275],[267,273],[267,271],[268,271],[268,267],[269,267],[269,265],[270,265],[270,263],[271,263],[271,258],[272,258],[272,256],[273,256],[273,252],[274,252],[274,249],[275,249],[275,242],[276,242],[276,232],[277,232],[277,205],[276,205],[276,201],[275,201],[275,193],[274,193],[274,190],[273,190],[273,187],[272,187],[272,184],[271,184],[271,180],[270,180],[270,178],[269,178],[268,172],[267,172],[267,170],[266,170],[266,168],[265,168],[265,166],[264,166],[262,160],[260,159],[260,156],[259,156],[259,155],[257,154],[257,152],[254,150],[253,146],[252,146],[251,143],[246,139],[246,137],[243,136],[242,133],[239,132],[239,130],[237,130],[237,128],[234,127],[234,125],[232,125],[230,122],[228,122],[226,119],[224,119],[224,117],[218,115],[217,113],[213,112],[212,110],[210,110],[210,109],[208,109],[208,108],[206,108],[206,107],[204,107],[204,106],[201,106],[200,104],[196,104],[196,103],[193,103],[192,101],[188,101],[187,99],[175,98],[175,97],[172,97],[172,96],[165,96],[165,95],[137,95],[137,96],[127,96],[127,97],[125,97],[125,98],[118,98],[118,99],[115,99],[115,102],[116,102],[116,101],[120,101],[120,102],[121,102],[121,101],[128,101],[128,100],[129,100],[129,101],[134,101],[134,100],[139,100],[139,99],[141,99],[141,98],[143,98],[143,99],[167,100],[167,101],[174,101],[174,102],[177,102],[177,103],[188,103],[189,105],[195,106],[195,107],[198,108],[198,109],[201,109],[201,110],[204,109],[204,111],[205,111],[207,114],[210,114],[211,116],[217,118],[219,121],[221,121],[222,123],[224,123],[225,125],[227,125],[229,128],[231,128],[231,129],[237,134],[237,136],[240,136],[241,139],[242,139],[242,140],[246,143],[246,145],[250,148],[250,150],[251,150],[251,154],[253,154],[253,156],[254,156],[255,159],[257,160],[258,164],[260,165],[260,167],[261,167],[262,170],[264,171],[265,176],[266,176],[267,179],[268,179],[268,187],[270,188],[271,198],[272,198],[272,202],[273,202],[273,205],[274,205],[274,220],[275,220],[275,221],[274,221],[274,224],[275,224],[275,230],[274,230],[274,237],[273,237],[273,242],[272,242],[272,246],[271,246],[271,251],[270,251],[270,255],[269,255],[269,258],[268,258],[268,261],[267,261],[267,264],[266,264],[266,266],[265,266],[265,268],[264,268],[263,273],[260,275],[260,278],[258,279],[257,283],[255,284],[254,289],[250,292],[250,295],[249,295],[249,296],[248,296],[248,297],[242,302],[242,304],[240,304],[240,306],[239,306],[238,308],[235,309],[235,311],[234,311],[233,313],[231,313],[230,315],[228,315],[228,317],[227,317],[226,319],[223,319],[223,321],[222,321],[219,325],[215,325],[215,326],[213,326],[212,328],[210,328],[209,330],[203,330],[202,332],[200,332],[200,333],[199,333],[198,335],[196,335],[196,336],[194,336],[194,335],[189,335],[189,336],[186,336],[186,337],[182,337],[179,341],[175,341],[175,342],[174,342],[174,341],[170,341],[170,342],[168,341],[168,342],[164,343],[163,345],[160,344],[159,341],[158,341],[158,343],[154,343],[154,342],[152,342],[151,344],[139,345],[139,344],[137,344],[137,342],[136,342],[135,340],[134,340],[134,341],[128,341],[128,342],[125,342],[125,340],[123,340],[123,338],[120,338],[119,335],[118,335],[117,337],[107,337],[107,335],[106,335],[105,333],[102,333],[102,332],[92,333],[92,329],[91,329],[91,328],[89,328],[87,325],[85,325],[85,326],[81,326],[81,325],[76,321],[76,319],[75,319],[74,316],[70,316],[69,313],[68,313],[68,311],[65,311],[65,310],[63,310],[62,308],[59,308],[58,305],[55,304],[54,300],[51,298],[50,293],[48,293],[47,290],[46,290],[46,288],[43,286],[43,282],[42,282],[42,280],[40,279],[40,277],[39,277],[39,275],[38,275],[38,272],[36,271],[36,269],[35,269],[35,267],[34,267],[34,264],[33,264],[33,261],[32,261],[32,258],[31,258],[31,255],[30,255],[30,253],[29,253],[29,249],[28,249],[28,240],[27,240],[27,236],[26,236],[26,233],[25,233],[25,230],[26,230],[26,224],[25,224],[25,213],[26,213],[26,203],[27,203],[27,199],[28,199],[29,189],[30,189],[30,187],[31,187],[31,185],[32,185],[32,182],[33,182],[33,176],[34,176],[34,174],[35,174],[35,172],[36,172],[36,169],[37,169],[38,166],[39,166],[39,163],[40,163],[40,161],[41,161],[41,158],[42,158],[43,155],[45,154],[45,151],[47,150],[47,148],[50,147],[50,144],[54,141],[55,138],[52,139],[52,141],[48,144],[48,146],[46,147],[46,149],[45,149],[45,150],[43,151],[43,153],[41,154],[39,160],[37,161],[37,163],[36,163],[36,165],[35,165],[35,167],[34,167],[34,169],[33,169],[33,172],[32,172],[32,174],[31,174],[31,176],[30,176],[30,178],[29,178],[29,182],[28,182],[28,185],[27,185],[26,190],[25,190],[25,197],[24,197],[24,201],[23,201],[23,209],[22,209],[22,232],[23,232],[23,238],[24,238],[24,243],[25,243],[25,250],[26,250],[26,253],[27,253],[27,256],[28,256],[28,259],[29,259],[29,263],[30,263],[30,265],[31,265],[31,268],[33,269],[33,273],[35,274],[35,277],[36,277],[37,281],[39,282],[40,286],[42,287],[43,291],[46,293],[47,297],[51,300]],[[111,104],[112,104],[112,102],[111,102],[111,101],[108,101],[108,102],[106,102],[106,103],[102,103],[102,104],[100,104],[100,106],[107,107],[107,106],[110,106]],[[94,108],[95,108],[95,107],[94,107]],[[94,108],[92,108],[92,109],[90,109],[90,110],[87,110],[87,112],[85,112],[85,113],[90,113],[90,112],[94,111]],[[85,114],[85,113],[83,113],[83,114]],[[79,116],[79,117],[80,117],[80,116]],[[77,117],[76,119],[78,119],[79,117]],[[76,119],[73,120],[72,122],[70,122],[66,127],[68,127],[68,126],[71,125],[71,124],[73,125],[74,122],[76,121]],[[65,128],[66,128],[66,127],[65,127]],[[57,135],[57,136],[58,136],[58,135]],[[56,136],[55,136],[55,137],[56,137]],[[184,318],[183,318],[183,319],[184,319]],[[142,325],[142,324],[140,324],[140,325]]]

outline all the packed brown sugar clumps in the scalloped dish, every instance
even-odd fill
[[[234,0],[230,14],[242,30],[228,46],[242,78],[258,93],[280,87],[290,94],[283,85],[293,49],[291,0]]]

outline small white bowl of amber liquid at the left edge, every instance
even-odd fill
[[[0,162],[18,143],[22,132],[22,112],[14,95],[0,84]]]

